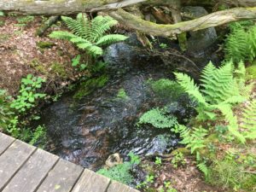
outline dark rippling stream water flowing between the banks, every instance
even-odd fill
[[[93,170],[113,153],[172,151],[177,137],[171,131],[136,125],[144,112],[168,103],[180,120],[195,115],[186,96],[165,101],[155,96],[147,83],[148,79],[173,79],[172,69],[159,57],[123,43],[108,47],[104,60],[108,62],[109,80],[103,88],[80,100],[73,98],[75,93],[63,96],[44,108],[40,124],[48,130],[47,149]],[[125,90],[126,96],[118,96],[119,90]]]

